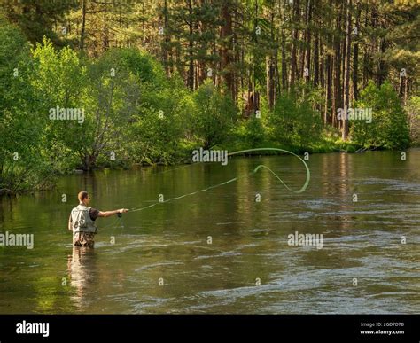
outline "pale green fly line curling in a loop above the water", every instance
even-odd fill
[[[256,149],[247,149],[247,150],[241,150],[241,151],[237,151],[237,152],[230,152],[230,153],[228,153],[228,156],[232,156],[232,155],[237,155],[237,154],[240,154],[240,153],[246,153],[246,152],[258,152],[258,151],[277,151],[277,152],[286,152],[286,153],[290,153],[290,154],[292,154],[293,156],[295,156],[295,157],[297,157],[302,163],[303,163],[303,165],[305,166],[305,168],[306,168],[306,172],[307,172],[307,178],[306,178],[306,180],[305,180],[305,183],[303,184],[303,186],[298,190],[298,191],[293,191],[286,183],[284,183],[284,181],[278,176],[278,175],[276,175],[276,173],[273,171],[273,170],[271,170],[270,168],[268,168],[267,166],[265,166],[265,165],[263,165],[263,164],[261,164],[261,165],[258,165],[256,168],[254,168],[253,169],[253,171],[252,172],[250,172],[250,173],[247,173],[247,174],[245,174],[245,175],[242,175],[242,176],[237,176],[237,177],[234,177],[234,178],[232,178],[232,179],[230,179],[230,180],[228,180],[228,181],[225,181],[225,182],[223,182],[223,183],[217,183],[217,184],[214,184],[214,185],[212,185],[212,186],[209,186],[209,187],[207,187],[207,188],[204,188],[204,189],[202,189],[202,190],[198,190],[198,191],[193,191],[193,192],[191,192],[191,193],[186,193],[186,194],[183,194],[183,195],[181,195],[181,196],[179,196],[179,197],[175,197],[175,198],[171,198],[171,199],[167,199],[167,200],[163,200],[163,201],[157,201],[157,202],[155,202],[155,203],[153,203],[153,204],[151,204],[151,205],[148,205],[148,206],[146,206],[146,207],[139,207],[139,208],[132,208],[132,209],[130,209],[130,211],[129,211],[129,213],[131,213],[131,212],[138,212],[138,211],[143,211],[143,210],[145,210],[145,209],[147,209],[147,208],[151,208],[151,207],[155,207],[156,205],[159,205],[159,204],[165,204],[165,203],[167,203],[167,202],[169,202],[169,201],[174,201],[174,200],[177,200],[177,199],[183,199],[183,198],[185,198],[185,197],[190,197],[190,196],[192,196],[192,195],[194,195],[194,194],[197,194],[197,193],[199,193],[199,192],[203,192],[203,191],[209,191],[209,190],[212,190],[212,189],[214,189],[214,188],[216,188],[216,187],[221,187],[221,186],[223,186],[223,185],[225,185],[225,184],[228,184],[228,183],[233,183],[233,182],[235,182],[235,181],[237,181],[237,180],[239,180],[239,179],[242,179],[242,178],[244,178],[244,177],[246,177],[246,176],[248,176],[248,175],[254,175],[254,174],[256,174],[261,168],[265,168],[265,169],[267,169],[272,175],[274,175],[275,177],[276,177],[276,179],[279,181],[279,182],[281,182],[283,185],[284,185],[284,187],[288,190],[288,191],[292,191],[293,193],[301,193],[301,192],[303,192],[303,191],[306,191],[306,189],[307,189],[307,185],[309,184],[309,180],[310,180],[310,176],[311,176],[311,173],[310,173],[310,171],[309,171],[309,168],[307,167],[307,163],[305,162],[305,160],[302,160],[300,157],[299,157],[299,155],[297,155],[297,154],[295,154],[295,153],[293,153],[293,152],[289,152],[289,151],[287,151],[287,150],[284,150],[284,149],[278,149],[278,148],[256,148]]]

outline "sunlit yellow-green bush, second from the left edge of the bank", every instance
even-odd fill
[[[57,172],[65,172],[74,164],[74,151],[85,141],[85,127],[77,121],[51,120],[52,109],[84,109],[87,97],[86,67],[70,48],[56,50],[44,38],[32,51],[35,70],[30,82],[40,97],[38,121],[44,123],[43,150]]]

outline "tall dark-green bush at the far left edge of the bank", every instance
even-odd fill
[[[51,181],[40,153],[43,123],[29,82],[28,51],[19,29],[0,21],[0,193],[40,189]]]

